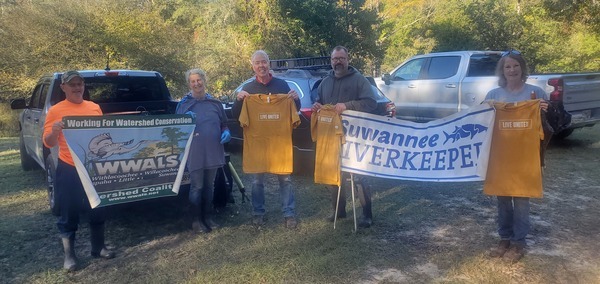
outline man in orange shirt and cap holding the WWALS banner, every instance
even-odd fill
[[[69,152],[63,135],[64,116],[102,115],[100,106],[83,99],[85,84],[77,71],[68,71],[61,75],[60,88],[66,99],[48,110],[44,124],[43,142],[48,148],[58,145],[58,165],[56,166],[55,194],[58,201],[58,231],[65,253],[63,268],[68,271],[77,269],[75,256],[75,233],[79,225],[79,213],[89,213],[91,255],[95,258],[113,258],[115,253],[104,244],[105,208],[91,209],[83,185],[75,169],[75,163]]]

